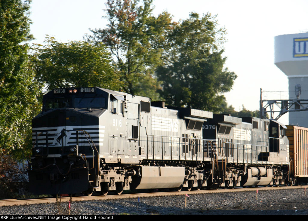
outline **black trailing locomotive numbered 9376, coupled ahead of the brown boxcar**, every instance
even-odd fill
[[[294,183],[290,180],[289,140],[284,124],[255,117],[214,115],[203,127],[203,137],[214,141],[216,163],[211,183],[224,188]]]

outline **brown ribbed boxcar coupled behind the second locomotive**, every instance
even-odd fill
[[[297,183],[307,183],[308,128],[289,125],[286,135],[290,148],[290,175]]]

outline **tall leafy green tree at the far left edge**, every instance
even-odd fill
[[[39,111],[39,87],[30,65],[30,1],[0,1],[0,155],[31,143],[31,119]]]

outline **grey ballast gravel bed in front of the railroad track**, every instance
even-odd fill
[[[71,215],[308,215],[308,191],[262,190],[71,202]],[[0,207],[0,215],[67,215],[68,202]]]

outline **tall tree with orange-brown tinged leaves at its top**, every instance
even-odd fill
[[[152,0],[107,0],[106,5],[107,28],[92,30],[89,39],[109,48],[126,92],[158,99],[153,74],[171,28],[170,14],[152,16]]]

